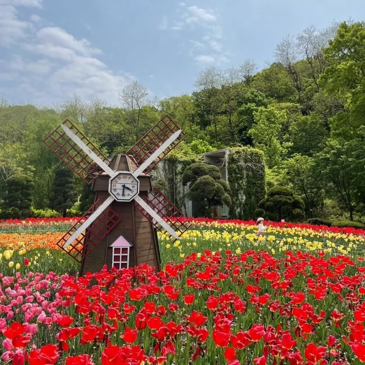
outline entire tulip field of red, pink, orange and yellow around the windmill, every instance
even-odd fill
[[[0,221],[1,364],[365,362],[363,230],[194,220],[159,233],[159,273],[77,277],[73,222]]]

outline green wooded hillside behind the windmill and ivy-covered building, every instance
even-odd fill
[[[209,67],[194,86],[191,95],[150,100],[134,81],[120,90],[116,107],[77,95],[52,108],[12,105],[4,95],[1,216],[76,215],[90,205],[84,184],[43,143],[64,119],[112,156],[168,114],[185,134],[170,159],[250,146],[264,154],[265,190],[282,186],[300,196],[306,220],[365,223],[364,22],[310,26],[283,39],[264,69],[252,60]]]

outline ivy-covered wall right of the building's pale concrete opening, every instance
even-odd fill
[[[252,147],[229,148],[227,172],[232,199],[230,218],[254,218],[258,203],[265,197],[264,154]]]

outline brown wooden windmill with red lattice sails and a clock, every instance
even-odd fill
[[[44,140],[46,145],[95,192],[90,209],[57,242],[81,263],[80,275],[147,263],[161,270],[156,229],[177,239],[191,225],[149,173],[182,140],[167,115],[126,154],[109,160],[69,120]]]

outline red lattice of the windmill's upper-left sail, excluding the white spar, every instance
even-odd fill
[[[68,119],[62,124],[68,127],[77,137],[82,140],[98,157],[106,164],[110,161],[104,154],[81,133]],[[44,143],[53,151],[72,171],[78,174],[86,184],[90,184],[99,173],[101,168],[73,141],[61,126],[51,132]]]

